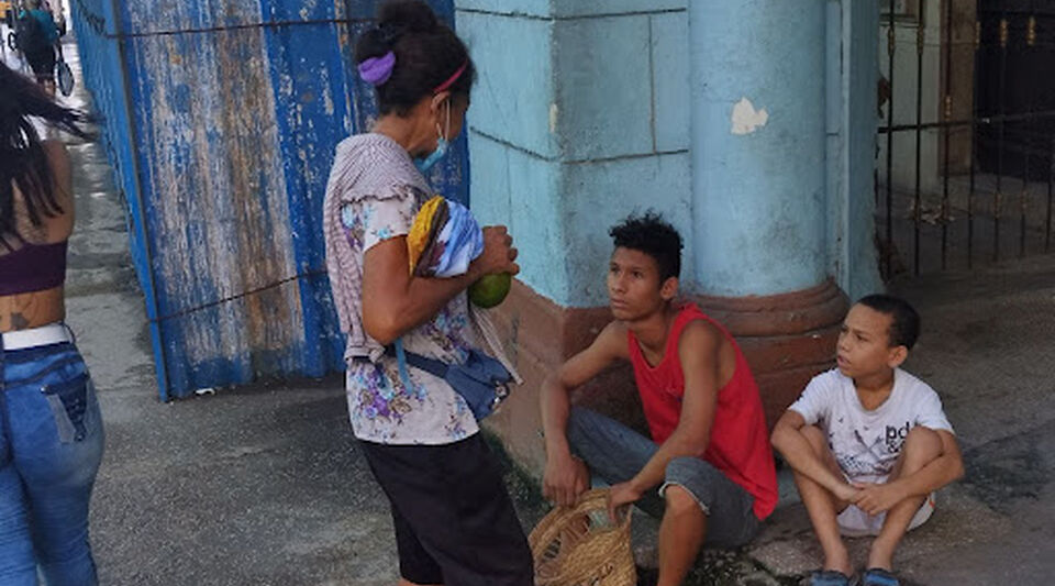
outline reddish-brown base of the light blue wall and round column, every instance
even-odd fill
[[[692,299],[736,338],[758,383],[770,428],[811,377],[834,365],[835,341],[848,303],[831,280],[775,296]],[[487,420],[487,427],[501,435],[518,462],[541,474],[545,466],[538,411],[542,382],[586,349],[611,321],[611,312],[607,307],[564,308],[514,281],[493,318],[524,385]],[[610,368],[577,390],[573,402],[646,429],[629,364]]]

